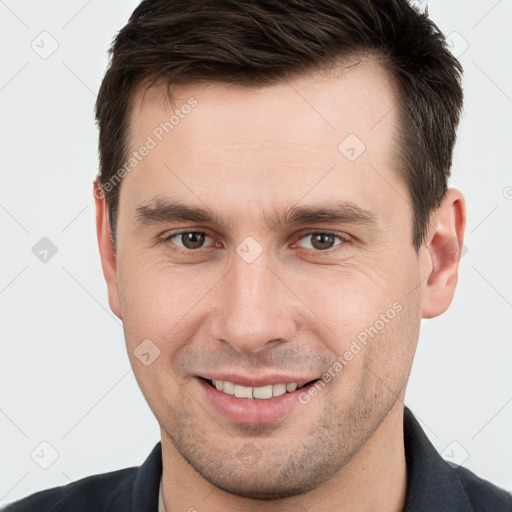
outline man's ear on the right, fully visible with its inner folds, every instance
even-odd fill
[[[430,274],[424,286],[423,318],[433,318],[444,313],[452,302],[465,229],[464,196],[456,189],[448,189],[441,206],[432,214],[424,248],[427,251]]]

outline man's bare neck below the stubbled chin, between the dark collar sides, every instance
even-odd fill
[[[264,501],[227,493],[199,475],[162,432],[163,496],[166,512],[399,512],[405,502],[407,471],[403,403],[397,401],[374,435],[329,481],[291,498]]]

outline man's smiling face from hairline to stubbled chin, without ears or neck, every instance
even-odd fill
[[[418,338],[392,82],[361,63],[173,96],[133,104],[110,303],[173,456],[240,496],[304,493],[403,407]]]

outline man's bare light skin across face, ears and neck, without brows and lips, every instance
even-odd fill
[[[175,87],[173,108],[198,104],[124,177],[116,254],[96,190],[109,302],[161,427],[168,512],[402,509],[405,388],[421,318],[453,297],[465,205],[450,189],[415,251],[408,191],[394,170],[393,83],[373,62],[340,70],[264,88]],[[162,91],[135,97],[131,149],[169,118]],[[353,162],[338,150],[351,133],[366,146]],[[138,221],[137,207],[157,196],[207,206],[219,222]],[[333,201],[373,212],[374,222],[265,222]],[[187,230],[208,235],[199,252],[165,240]],[[315,254],[307,235],[325,231],[346,241],[334,237],[330,252]],[[248,236],[262,249],[252,263],[236,251]],[[400,312],[343,370],[278,422],[227,420],[196,379],[321,376],[396,303]],[[134,354],[147,338],[160,350],[149,366]],[[256,462],[240,456],[248,445]]]

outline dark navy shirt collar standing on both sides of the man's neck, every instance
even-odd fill
[[[412,412],[404,410],[407,494],[403,512],[472,512],[454,470],[437,453]],[[158,442],[137,471],[131,512],[157,512],[162,476],[162,444]]]

